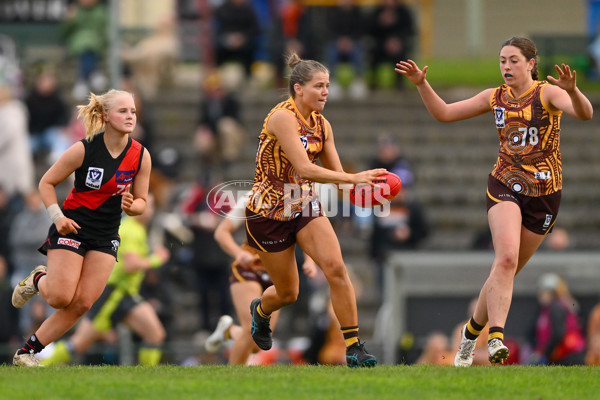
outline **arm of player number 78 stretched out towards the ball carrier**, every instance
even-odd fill
[[[406,76],[415,84],[425,107],[436,120],[440,122],[460,121],[490,110],[489,99],[492,89],[486,89],[469,99],[447,104],[427,82],[428,69],[429,66],[425,66],[421,70],[413,60],[407,60],[397,63],[395,71]]]

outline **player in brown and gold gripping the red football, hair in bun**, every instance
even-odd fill
[[[346,341],[350,367],[370,367],[377,360],[358,339],[356,296],[331,223],[321,212],[313,182],[373,183],[385,169],[344,172],[329,122],[321,115],[329,94],[329,71],[292,53],[290,98],[267,115],[259,136],[256,175],[246,209],[246,234],[273,286],[252,301],[252,337],[258,347],[272,345],[271,313],[296,301],[298,268],[295,244],[323,270],[333,309]],[[317,158],[323,167],[316,165]],[[299,195],[294,196],[294,193]]]

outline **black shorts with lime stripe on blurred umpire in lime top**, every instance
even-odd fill
[[[100,332],[113,329],[133,308],[144,299],[139,294],[129,295],[123,289],[106,285],[100,298],[87,312],[86,317],[92,320],[94,327]]]

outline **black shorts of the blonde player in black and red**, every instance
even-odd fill
[[[85,257],[85,253],[90,250],[99,251],[113,255],[117,258],[117,251],[121,245],[121,238],[116,235],[108,240],[87,240],[82,239],[79,235],[69,233],[68,235],[61,235],[56,229],[56,225],[50,225],[48,229],[48,237],[44,243],[40,246],[38,251],[43,255],[47,255],[48,250],[52,249],[63,249],[69,250],[80,256]]]

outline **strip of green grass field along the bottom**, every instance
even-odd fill
[[[597,399],[593,367],[0,366],[0,399]]]

